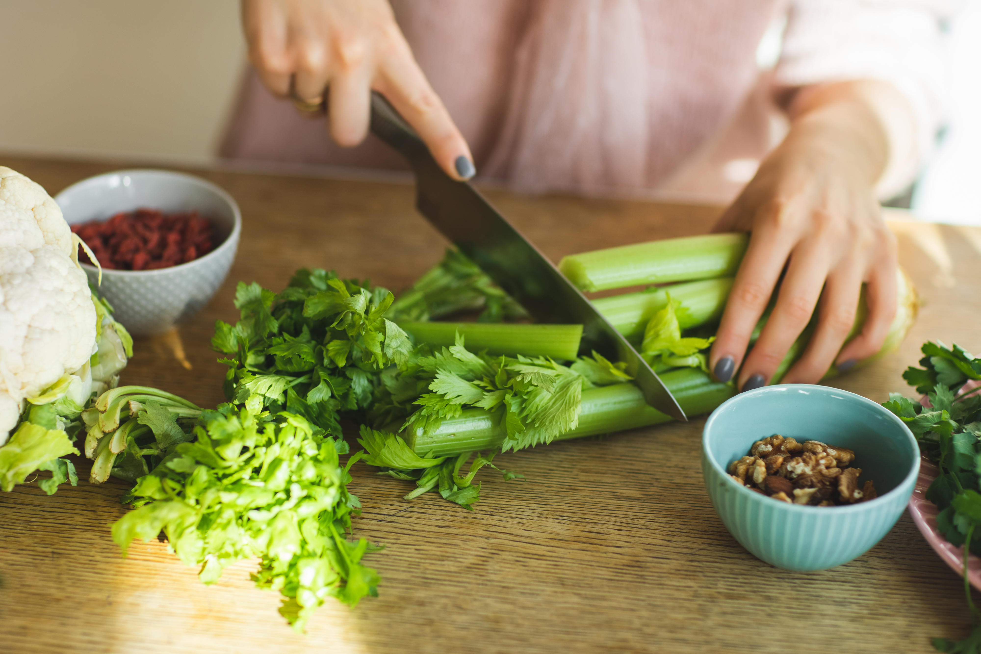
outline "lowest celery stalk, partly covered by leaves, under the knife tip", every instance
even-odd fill
[[[661,380],[678,400],[686,415],[708,413],[732,397],[730,384],[718,383],[693,368],[671,371]],[[557,440],[594,436],[623,429],[668,423],[671,418],[645,402],[644,394],[633,383],[617,383],[583,391],[579,426]],[[504,442],[500,417],[483,409],[467,409],[459,418],[443,421],[428,434],[407,434],[405,441],[417,454],[443,457],[493,450]]]

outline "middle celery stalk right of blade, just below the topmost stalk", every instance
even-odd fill
[[[680,300],[688,310],[686,320],[681,322],[681,327],[685,329],[722,316],[732,285],[732,277],[701,279],[603,297],[593,300],[593,305],[620,333],[628,339],[638,339],[644,336],[644,329],[653,315],[667,306],[668,293],[672,299]]]

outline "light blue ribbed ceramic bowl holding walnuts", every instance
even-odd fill
[[[878,497],[851,506],[800,506],[729,477],[732,461],[775,433],[854,450],[859,483],[872,479]],[[862,555],[893,528],[916,483],[919,449],[903,421],[861,395],[808,384],[764,386],[709,417],[701,471],[722,523],[749,552],[778,568],[825,570]]]

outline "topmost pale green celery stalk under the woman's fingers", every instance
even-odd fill
[[[584,291],[736,274],[749,234],[668,238],[569,255],[559,270]]]

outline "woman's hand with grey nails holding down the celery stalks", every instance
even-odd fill
[[[864,83],[875,82],[802,89],[787,138],[713,227],[751,232],[709,359],[722,381],[740,371],[743,390],[768,383],[815,307],[813,336],[782,381],[815,383],[833,364],[851,368],[882,346],[896,314],[896,239],[873,190],[889,142],[861,93]],[[773,311],[746,356],[782,274]],[[863,282],[868,317],[842,349]]]

